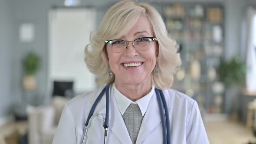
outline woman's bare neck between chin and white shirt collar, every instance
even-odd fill
[[[115,80],[115,87],[121,92],[125,97],[129,98],[131,101],[137,101],[138,99],[144,97],[151,91],[151,79],[148,82],[141,82],[138,84],[125,84]]]

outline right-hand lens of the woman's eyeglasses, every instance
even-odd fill
[[[153,39],[142,37],[142,38],[135,39],[133,44],[135,49],[137,50],[147,50],[147,49],[150,49],[151,46],[153,45]]]

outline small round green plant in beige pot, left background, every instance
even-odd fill
[[[36,89],[35,73],[39,69],[39,62],[40,59],[34,52],[30,52],[23,61],[25,75],[23,77],[22,84],[23,88],[27,91],[33,91]]]

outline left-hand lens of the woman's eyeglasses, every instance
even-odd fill
[[[112,52],[123,52],[126,48],[126,42],[123,40],[111,40],[108,42],[108,47],[112,49]]]

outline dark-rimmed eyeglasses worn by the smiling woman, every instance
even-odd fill
[[[112,39],[105,41],[105,46],[111,48],[112,52],[124,52],[128,49],[129,42],[132,42],[132,45],[137,50],[148,50],[154,43],[154,40],[157,41],[154,37],[141,37],[135,39],[134,41],[125,41],[121,39]]]

